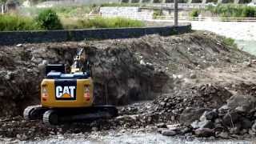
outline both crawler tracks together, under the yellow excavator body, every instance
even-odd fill
[[[42,105],[28,106],[24,110],[26,120],[42,119],[47,125],[59,125],[69,122],[93,121],[99,118],[113,118],[118,116],[115,106],[90,106],[81,108],[46,108]]]

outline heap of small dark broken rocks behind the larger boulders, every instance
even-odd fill
[[[232,94],[222,86],[203,84],[170,94],[163,94],[154,100],[154,110],[162,113],[181,114],[186,107],[220,107]]]

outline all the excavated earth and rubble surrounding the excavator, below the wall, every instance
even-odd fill
[[[2,46],[0,135],[33,139],[70,133],[86,136],[92,130],[151,130],[163,135],[252,137],[256,132],[256,58],[222,40],[210,32],[194,32]],[[25,106],[39,102],[44,64],[69,66],[81,47],[94,67],[97,102],[120,106],[120,116],[54,128],[14,117]],[[137,103],[142,100],[152,101]]]

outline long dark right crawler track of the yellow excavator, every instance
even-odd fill
[[[85,122],[99,118],[107,119],[118,116],[115,106],[91,106],[85,108],[51,109],[43,114],[43,122],[48,126],[66,122]]]

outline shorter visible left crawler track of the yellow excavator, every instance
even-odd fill
[[[48,108],[42,107],[41,105],[27,106],[23,111],[23,117],[26,120],[41,119],[46,110]]]

